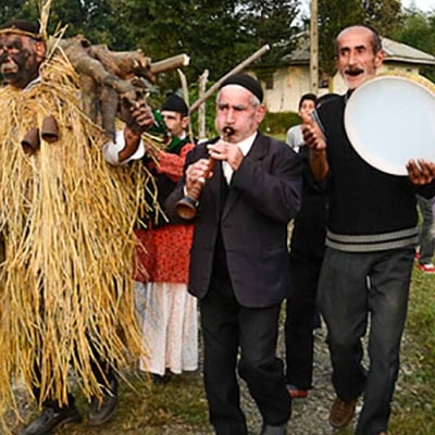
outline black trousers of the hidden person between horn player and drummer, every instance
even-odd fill
[[[313,326],[322,259],[290,254],[291,287],[285,320],[286,380],[301,389],[312,386]]]

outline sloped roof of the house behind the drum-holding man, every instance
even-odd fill
[[[385,52],[384,62],[402,62],[417,65],[435,65],[435,57],[406,44],[382,38],[382,46]],[[301,37],[299,47],[286,59],[290,65],[303,65],[310,62],[309,38]]]

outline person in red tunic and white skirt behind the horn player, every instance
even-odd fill
[[[170,96],[161,114],[167,145],[164,151],[148,147],[142,162],[154,175],[158,203],[163,208],[195,144],[186,133],[189,110],[183,98]],[[164,382],[169,380],[166,371],[179,374],[198,369],[197,299],[187,291],[194,226],[173,224],[154,211],[146,222],[147,228],[135,232],[138,238],[135,287],[139,299],[142,298],[139,303],[145,302],[141,315],[148,349],[140,369],[149,371],[154,381]]]

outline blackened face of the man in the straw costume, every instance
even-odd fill
[[[38,76],[45,46],[28,36],[0,35],[0,74],[7,85],[24,88]]]

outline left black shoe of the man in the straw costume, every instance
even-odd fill
[[[20,435],[48,435],[55,427],[66,423],[79,423],[82,415],[76,407],[61,408],[45,408],[41,417],[34,420]]]

